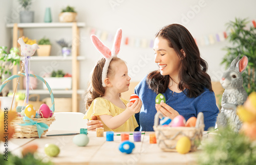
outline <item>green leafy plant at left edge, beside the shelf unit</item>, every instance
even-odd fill
[[[12,47],[10,53],[7,53],[6,46],[0,46],[0,81],[5,79],[5,74],[11,75],[11,69],[19,64],[19,50]]]

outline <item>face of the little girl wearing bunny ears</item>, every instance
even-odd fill
[[[110,76],[112,87],[117,90],[117,93],[122,93],[129,90],[131,77],[128,75],[126,64],[122,60],[111,63],[114,74]]]

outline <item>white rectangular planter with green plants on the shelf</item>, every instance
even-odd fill
[[[64,73],[63,70],[53,71],[51,74],[45,75],[44,79],[53,90],[70,90],[72,88],[72,75]],[[47,89],[46,85],[44,85],[44,89]]]

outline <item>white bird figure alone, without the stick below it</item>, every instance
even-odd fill
[[[18,43],[20,44],[20,48],[22,50],[22,56],[33,56],[36,49],[38,49],[38,45],[37,44],[33,44],[33,45],[29,45],[26,44],[22,38],[18,39]]]

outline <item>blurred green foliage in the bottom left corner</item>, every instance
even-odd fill
[[[35,157],[33,154],[29,153],[23,158],[13,155],[11,152],[8,152],[8,161],[5,160],[5,155],[0,154],[0,164],[3,165],[52,165],[51,161],[45,161],[40,158]]]

